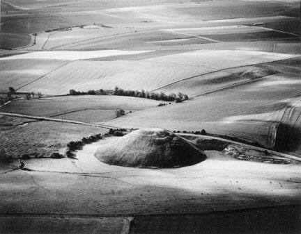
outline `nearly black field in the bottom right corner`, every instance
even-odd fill
[[[300,233],[301,206],[250,208],[202,215],[135,217],[130,233]]]

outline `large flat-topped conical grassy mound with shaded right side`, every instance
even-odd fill
[[[144,128],[99,147],[98,160],[124,167],[185,167],[206,159],[183,137],[160,128]]]

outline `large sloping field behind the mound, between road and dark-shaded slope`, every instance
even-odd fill
[[[298,65],[298,62],[300,59],[291,60],[286,65]],[[274,66],[277,67],[277,63]],[[110,124],[142,127],[148,126],[155,116],[160,116],[160,119],[151,122],[151,126],[181,131],[200,131],[204,128],[211,133],[241,137],[271,148],[275,144],[275,128],[286,106],[290,105],[289,100],[300,95],[298,72],[290,74],[287,68],[282,66],[282,74],[265,76],[253,83],[197,97],[181,103],[180,108],[166,106],[137,112],[113,120]]]

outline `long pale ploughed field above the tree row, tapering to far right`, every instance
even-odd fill
[[[52,51],[55,53],[55,51]],[[191,51],[139,61],[75,61],[23,87],[21,92],[67,94],[113,89],[153,90],[183,78],[229,67],[292,58],[287,54],[254,51]]]

